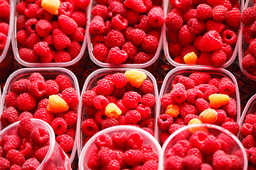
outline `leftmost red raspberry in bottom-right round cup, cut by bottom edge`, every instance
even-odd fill
[[[177,169],[181,170],[183,169],[183,159],[178,156],[172,156],[166,159],[166,162],[164,163],[164,169]]]

